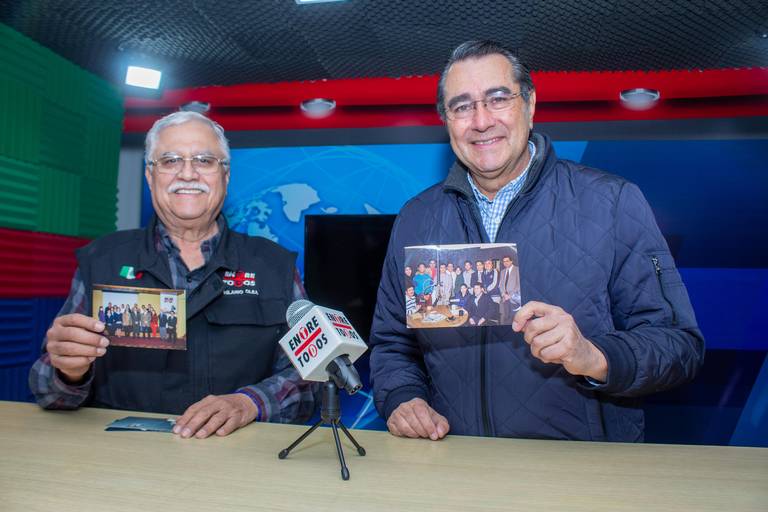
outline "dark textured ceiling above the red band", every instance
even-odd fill
[[[166,87],[429,75],[474,38],[538,71],[768,67],[764,0],[2,0],[0,21],[113,81],[154,59]]]

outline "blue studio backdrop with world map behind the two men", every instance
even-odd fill
[[[768,335],[760,328],[768,308],[768,141],[584,141],[554,147],[560,158],[640,186],[707,339],[710,370],[693,387],[649,400],[649,440],[768,444]],[[297,251],[303,271],[305,215],[397,213],[409,198],[441,181],[453,158],[447,144],[235,149],[224,212],[237,231]],[[146,219],[151,204],[144,204]],[[355,403],[368,397],[367,390],[361,397]],[[687,414],[689,424],[665,424],[665,407],[674,407],[678,417]],[[383,426],[369,400],[345,421]]]

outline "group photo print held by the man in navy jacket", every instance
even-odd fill
[[[412,329],[512,325],[520,309],[517,244],[406,247],[403,272]]]

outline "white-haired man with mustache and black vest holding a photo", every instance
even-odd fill
[[[38,403],[181,414],[174,432],[184,438],[308,418],[315,388],[277,345],[288,305],[303,296],[296,255],[229,231],[220,215],[230,172],[224,130],[176,112],[155,123],[145,149],[157,215],[78,251],[69,298],[30,372]],[[94,284],[184,289],[188,350],[110,348],[104,324],[89,316]]]

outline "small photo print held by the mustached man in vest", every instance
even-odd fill
[[[184,290],[96,284],[93,317],[110,346],[187,350]]]

